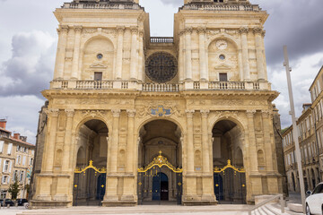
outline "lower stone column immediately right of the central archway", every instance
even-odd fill
[[[187,156],[187,164],[188,164],[188,173],[194,172],[194,136],[193,136],[193,116],[195,110],[186,110],[187,120],[188,120],[188,156]]]

